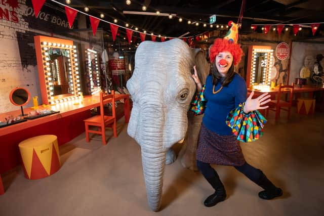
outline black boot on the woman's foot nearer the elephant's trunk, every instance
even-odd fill
[[[206,207],[212,207],[226,199],[226,191],[223,183],[221,182],[217,174],[215,177],[207,179],[207,181],[215,189],[215,193],[207,197],[207,199],[204,201],[204,205]]]

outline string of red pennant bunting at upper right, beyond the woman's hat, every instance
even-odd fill
[[[251,25],[251,28],[253,31],[257,29],[257,26],[264,26],[264,33],[267,34],[269,30],[271,29],[271,26],[276,26],[276,30],[278,31],[278,34],[280,36],[281,31],[284,29],[285,26],[293,26],[294,35],[298,33],[298,31],[301,30],[301,27],[307,27],[312,28],[313,36],[315,32],[317,31],[319,24],[323,24],[324,22],[317,22],[317,23],[299,23],[299,24],[253,24]],[[275,28],[274,28],[275,29]],[[288,30],[288,28],[286,28]]]

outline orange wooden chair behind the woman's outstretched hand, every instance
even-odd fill
[[[286,91],[283,92],[282,90],[289,90],[289,92]],[[288,94],[288,93],[290,93],[289,101],[280,100],[282,94]],[[289,120],[291,114],[291,108],[292,108],[293,94],[294,94],[294,82],[292,82],[292,85],[281,85],[280,83],[277,99],[271,100],[268,103],[269,108],[266,111],[266,116],[268,116],[269,110],[275,111],[275,121],[277,121],[280,116],[280,110],[282,109],[288,112],[288,120]]]

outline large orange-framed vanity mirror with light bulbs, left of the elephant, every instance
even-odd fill
[[[34,36],[39,85],[43,104],[80,98],[76,47],[72,40]]]

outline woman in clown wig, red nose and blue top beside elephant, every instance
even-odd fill
[[[245,138],[238,137],[229,127],[229,113],[236,113],[242,120],[241,127],[247,123],[247,119],[254,119],[251,125],[255,125],[255,119],[261,119],[258,109],[266,109],[269,95],[263,94],[252,99],[253,92],[247,98],[247,86],[244,78],[234,72],[234,65],[237,65],[242,56],[242,50],[237,43],[237,26],[231,22],[229,33],[223,38],[217,38],[210,49],[210,60],[212,63],[211,73],[203,85],[194,67],[193,79],[200,92],[200,99],[206,102],[205,115],[200,128],[197,144],[197,166],[201,174],[215,189],[204,202],[205,206],[211,207],[226,199],[226,191],[216,170],[210,164],[234,166],[251,181],[264,190],[259,193],[262,199],[273,199],[282,195],[282,190],[274,186],[260,169],[248,164],[242,154],[238,140]],[[199,97],[197,97],[199,98]],[[236,109],[236,110],[235,110]],[[256,116],[257,115],[257,116]],[[253,118],[250,118],[250,117]],[[242,123],[243,122],[243,123]],[[265,122],[265,119],[264,121]],[[257,127],[256,127],[257,128]],[[257,128],[257,130],[259,127]],[[236,128],[236,132],[245,131],[245,128]],[[257,133],[259,138],[262,132]],[[248,136],[247,141],[253,137],[253,132],[241,136]],[[238,139],[240,138],[240,139]],[[245,142],[247,142],[245,141]]]

